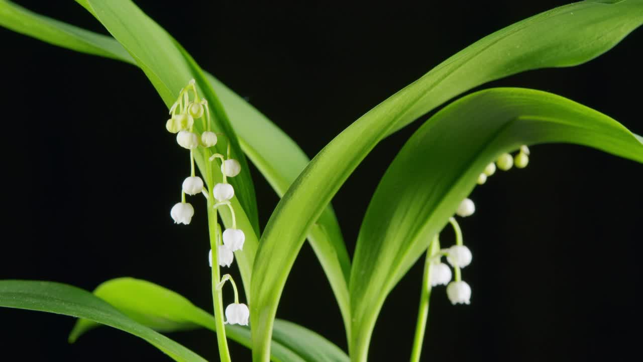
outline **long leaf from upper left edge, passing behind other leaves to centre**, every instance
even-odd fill
[[[136,64],[129,53],[111,37],[34,14],[4,0],[0,0],[0,25],[78,52]],[[187,53],[178,47],[187,56]],[[266,177],[276,193],[283,196],[296,176],[308,164],[309,159],[291,138],[242,97],[212,75],[206,73],[206,77],[215,93],[221,97],[230,119],[234,120],[233,128],[239,135],[242,150]],[[329,278],[348,331],[350,318],[347,285],[350,259],[331,207],[327,207],[311,227],[308,238]],[[246,247],[251,248],[253,243],[246,242],[246,245],[250,245]]]

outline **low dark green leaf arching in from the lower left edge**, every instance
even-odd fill
[[[206,361],[172,339],[133,321],[90,292],[71,285],[50,281],[1,280],[0,307],[86,318],[143,338],[176,361]]]

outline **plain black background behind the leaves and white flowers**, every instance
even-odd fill
[[[105,33],[73,1],[19,3]],[[137,3],[312,157],[449,55],[565,2]],[[484,88],[551,91],[643,133],[642,40],[638,30],[588,64],[529,71]],[[188,227],[169,217],[188,165],[165,131],[167,110],[143,73],[5,29],[0,41],[6,181],[0,278],[91,290],[134,276],[209,309],[204,205],[196,204]],[[334,198],[349,252],[377,181],[419,124],[381,142]],[[642,171],[593,149],[534,146],[527,169],[501,172],[477,187],[478,211],[461,222],[474,254],[464,270],[471,305],[453,307],[443,287],[434,292],[424,359],[586,361],[638,354]],[[278,198],[256,169],[250,172],[263,226]],[[408,359],[421,272],[418,263],[386,301],[372,360]],[[308,245],[278,316],[346,347],[331,289]],[[21,361],[168,360],[145,341],[109,328],[68,345],[71,325],[66,316],[2,309],[2,353]],[[170,337],[217,360],[211,332]],[[236,361],[249,359],[231,343]]]

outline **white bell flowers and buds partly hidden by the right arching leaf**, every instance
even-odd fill
[[[528,163],[529,148],[527,146],[521,146],[520,151],[514,157],[509,153],[503,153],[496,159],[496,162],[491,162],[485,167],[484,172],[478,176],[478,184],[482,185],[487,182],[487,178],[496,172],[496,168],[508,171],[513,166],[518,168],[527,167]],[[465,198],[458,205],[455,214],[460,217],[466,217],[473,215],[475,211],[476,207],[473,201],[470,198]],[[469,304],[471,302],[471,287],[466,281],[462,280],[460,269],[471,263],[473,255],[462,242],[462,231],[455,218],[449,218],[449,224],[455,231],[455,245],[448,249],[440,249],[429,257],[431,264],[429,266],[428,283],[431,284],[431,287],[447,285],[446,294],[453,305],[458,303]],[[433,242],[439,243],[439,240],[436,238]],[[439,248],[439,244],[437,247]],[[446,263],[441,262],[442,256],[446,256],[447,262],[453,267],[453,275],[455,275],[453,281],[451,281],[451,268]]]

